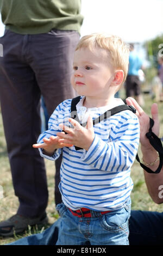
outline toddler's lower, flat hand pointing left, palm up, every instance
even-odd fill
[[[65,132],[61,132],[64,133]],[[39,144],[33,144],[33,148],[42,148],[44,149],[48,154],[53,154],[55,149],[60,149],[64,147],[72,147],[73,145],[71,144],[66,144],[66,143],[61,143],[59,142],[59,137],[58,136],[51,136],[49,138],[43,138],[44,143],[39,143]]]

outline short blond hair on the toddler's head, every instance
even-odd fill
[[[119,36],[94,33],[85,35],[78,42],[76,51],[80,48],[102,48],[108,52],[109,63],[117,70],[123,70],[124,78],[126,80],[129,64],[129,44],[126,44]]]

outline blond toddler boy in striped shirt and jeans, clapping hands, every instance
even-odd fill
[[[62,153],[57,245],[128,245],[130,168],[139,145],[139,120],[126,110],[92,123],[124,104],[114,95],[126,80],[128,61],[129,47],[118,36],[92,34],[80,39],[71,83],[81,95],[76,106],[79,121],[87,120],[87,125],[70,118],[72,100],[65,100],[33,145],[49,160]]]

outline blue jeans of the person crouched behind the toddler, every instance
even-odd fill
[[[61,218],[41,234],[23,237],[7,245],[55,245]],[[162,245],[163,212],[131,211],[129,220],[129,245]]]

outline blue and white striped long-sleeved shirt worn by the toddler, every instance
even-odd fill
[[[86,113],[95,119],[106,110],[122,105],[123,101],[114,99],[111,107],[86,109],[82,107],[84,97],[77,105],[79,119]],[[44,137],[56,136],[61,131],[59,124],[70,117],[71,99],[65,100],[55,109],[49,119],[49,130],[43,132],[37,141]],[[40,155],[56,160],[62,152],[60,168],[60,192],[62,201],[72,210],[89,208],[96,211],[115,210],[123,207],[130,197],[133,181],[130,168],[135,160],[139,146],[139,120],[131,111],[122,111],[95,124],[95,138],[88,151],[73,147],[57,149],[53,156]]]

